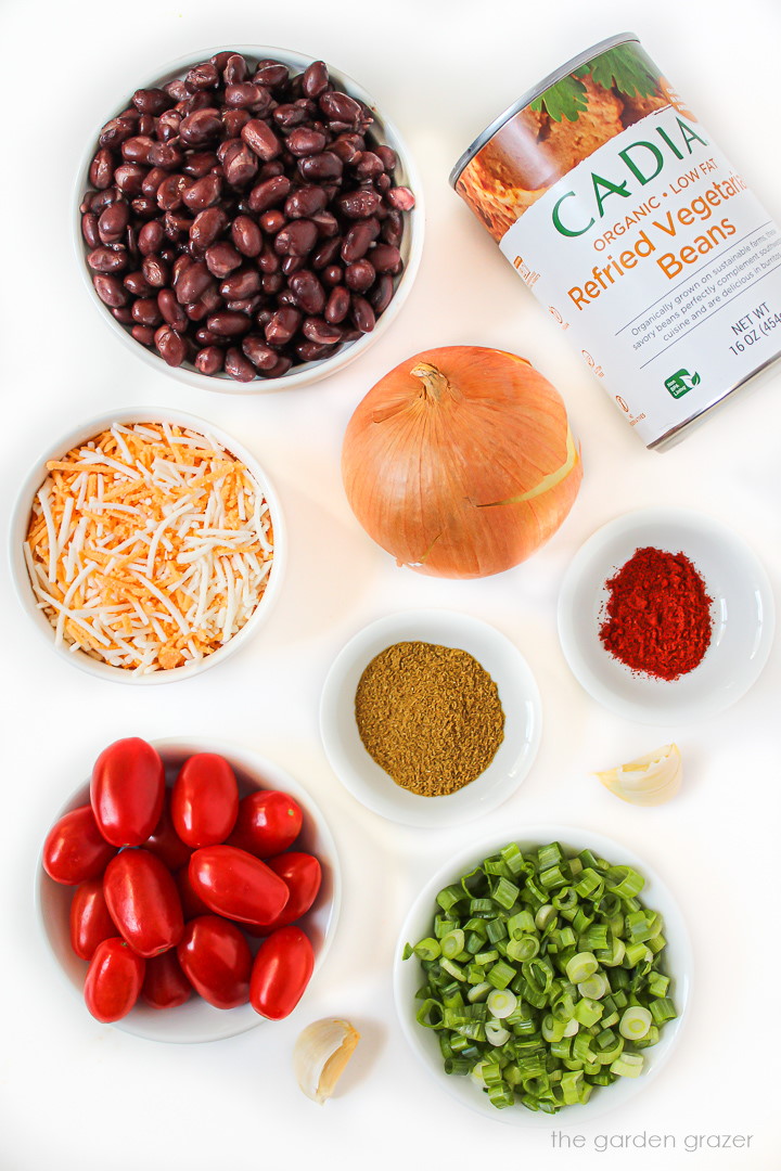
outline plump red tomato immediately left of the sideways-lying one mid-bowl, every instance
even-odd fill
[[[105,868],[111,918],[133,951],[148,958],[176,947],[184,931],[173,876],[149,850],[122,850]]]

